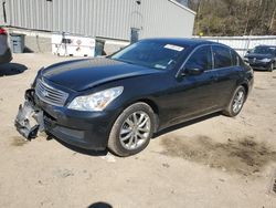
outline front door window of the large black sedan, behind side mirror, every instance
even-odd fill
[[[212,69],[212,53],[211,46],[201,46],[199,48],[187,61],[185,67],[190,69]]]

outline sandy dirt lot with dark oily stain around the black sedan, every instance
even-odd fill
[[[276,71],[255,72],[236,118],[185,123],[118,158],[45,135],[24,142],[13,127],[38,70],[63,60],[29,53],[0,66],[0,207],[276,207]]]

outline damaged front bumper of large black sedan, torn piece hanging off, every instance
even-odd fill
[[[25,92],[25,102],[20,105],[14,124],[18,132],[29,141],[40,132],[45,132],[76,147],[103,150],[118,113],[117,110],[81,112],[55,106],[40,100],[31,89]]]

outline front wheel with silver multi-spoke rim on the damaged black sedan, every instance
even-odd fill
[[[109,134],[108,149],[120,157],[144,150],[152,137],[155,113],[142,102],[127,107],[116,119]]]

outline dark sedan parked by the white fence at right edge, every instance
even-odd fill
[[[276,46],[258,45],[248,51],[244,61],[255,70],[272,72],[276,67]]]

